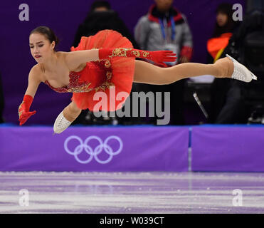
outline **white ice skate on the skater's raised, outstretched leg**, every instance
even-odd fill
[[[234,65],[234,71],[231,78],[244,81],[246,83],[249,83],[250,81],[252,81],[252,79],[257,80],[257,77],[251,71],[249,71],[248,68],[243,66],[241,63],[238,63],[236,59],[228,56],[228,54],[226,54],[226,57],[233,61]]]

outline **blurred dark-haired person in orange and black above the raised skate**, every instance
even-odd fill
[[[233,31],[238,28],[232,15],[231,4],[223,3],[216,9],[216,26],[213,37],[207,42],[208,63],[214,63],[218,58],[224,57],[223,51],[228,46]],[[233,56],[232,53],[229,54]],[[243,83],[229,78],[214,78],[211,85],[209,122],[241,123],[245,115],[244,108]]]

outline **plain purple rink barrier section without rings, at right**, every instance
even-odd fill
[[[262,125],[205,125],[191,130],[191,170],[264,172]]]

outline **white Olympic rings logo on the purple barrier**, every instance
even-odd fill
[[[70,151],[68,149],[68,142],[70,140],[78,140],[78,142],[80,142],[80,145],[78,145],[77,147],[75,147],[75,149],[73,151]],[[95,149],[93,150],[92,147],[90,147],[90,145],[88,145],[88,143],[90,142],[90,140],[97,140],[99,142],[99,145],[97,145],[97,147],[95,147]],[[117,142],[119,142],[119,149],[117,151],[113,151],[112,147],[110,147],[110,145],[108,145],[108,141],[109,140],[116,140]],[[107,164],[108,162],[110,162],[112,160],[112,157],[114,155],[118,155],[121,150],[123,148],[123,142],[122,140],[115,136],[109,136],[107,137],[107,139],[105,140],[105,142],[102,142],[102,140],[95,136],[89,136],[84,142],[83,140],[81,140],[80,137],[76,136],[76,135],[72,135],[70,137],[68,137],[65,142],[64,142],[64,149],[66,150],[66,152],[68,152],[68,154],[73,155],[75,157],[75,160],[77,160],[78,162],[80,162],[81,164],[88,164],[91,160],[93,160],[93,157],[95,157],[95,160],[100,163],[100,164]],[[83,149],[85,150],[85,152],[90,155],[88,160],[80,160],[80,158],[78,157],[78,155],[80,155],[81,152],[83,152]],[[102,150],[105,150],[105,152],[107,153],[107,155],[109,155],[109,157],[107,158],[107,160],[100,160],[97,156],[100,155],[100,153],[102,152]]]

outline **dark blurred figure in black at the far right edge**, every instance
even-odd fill
[[[256,76],[257,81],[243,83],[245,123],[264,123],[264,1],[248,0],[246,14],[223,52],[233,55]],[[250,118],[248,118],[250,117]]]

